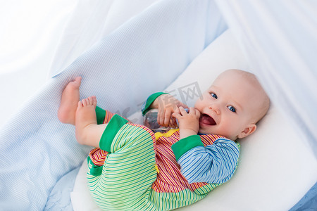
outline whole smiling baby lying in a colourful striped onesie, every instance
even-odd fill
[[[173,210],[204,198],[234,174],[242,139],[256,130],[270,101],[256,77],[227,70],[195,103],[149,96],[143,114],[158,108],[158,122],[179,129],[155,133],[97,107],[95,96],[80,101],[80,77],[63,91],[58,118],[74,124],[78,143],[94,146],[87,179],[105,210]]]

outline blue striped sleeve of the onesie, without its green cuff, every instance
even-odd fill
[[[217,139],[212,145],[190,149],[178,159],[178,164],[189,183],[222,184],[234,174],[238,158],[237,143],[229,139]]]

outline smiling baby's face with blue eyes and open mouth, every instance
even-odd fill
[[[256,129],[253,117],[256,109],[254,101],[259,95],[254,92],[251,83],[239,73],[225,72],[204,92],[195,103],[201,113],[199,133],[218,134],[235,140],[243,138]]]

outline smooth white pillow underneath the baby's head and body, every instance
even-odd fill
[[[188,106],[207,89],[220,72],[249,70],[246,58],[228,30],[211,43],[185,72],[166,89]],[[140,113],[130,120],[142,121]],[[271,106],[254,134],[240,140],[240,165],[226,184],[198,203],[180,210],[288,210],[304,196],[316,179],[316,159],[287,120]],[[77,175],[74,210],[99,210],[87,188],[87,162]]]

